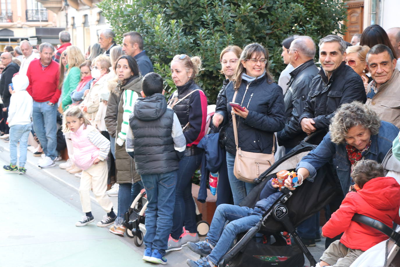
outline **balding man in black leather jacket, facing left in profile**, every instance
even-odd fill
[[[317,75],[318,68],[314,64],[315,43],[309,36],[297,36],[287,50],[290,64],[294,70],[290,72],[288,90],[284,95],[286,123],[278,132],[279,145],[288,153],[307,135],[298,124],[303,113],[311,80]]]

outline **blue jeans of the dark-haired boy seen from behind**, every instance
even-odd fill
[[[157,249],[162,255],[168,245],[168,237],[172,229],[172,213],[175,204],[175,188],[177,173],[171,171],[161,174],[140,175],[147,194],[146,248]]]

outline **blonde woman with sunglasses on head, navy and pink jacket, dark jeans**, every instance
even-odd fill
[[[204,137],[207,117],[207,97],[194,78],[201,70],[201,59],[185,54],[176,55],[171,62],[171,76],[178,90],[168,103],[174,109],[186,138],[185,156],[179,162],[173,225],[168,251],[180,250],[188,241],[198,242],[196,206],[192,197],[192,176],[202,161],[199,141]],[[182,227],[186,231],[182,233]],[[193,241],[192,241],[193,240]]]

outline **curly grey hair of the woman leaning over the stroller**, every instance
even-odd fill
[[[336,145],[344,143],[348,130],[354,126],[369,129],[371,135],[377,135],[380,127],[380,118],[374,110],[362,102],[353,101],[342,104],[336,110],[329,125],[330,141]]]

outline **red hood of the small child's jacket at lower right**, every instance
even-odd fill
[[[400,202],[400,185],[392,177],[377,177],[365,183],[357,194],[375,209],[393,209]]]

